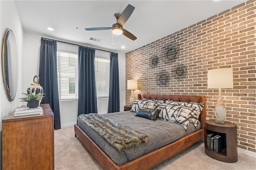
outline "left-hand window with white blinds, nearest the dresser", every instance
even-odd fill
[[[57,51],[58,91],[60,100],[78,98],[78,55]]]

